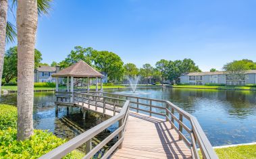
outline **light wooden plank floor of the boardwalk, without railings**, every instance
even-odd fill
[[[103,104],[91,101],[76,106],[103,113]],[[117,114],[120,108],[116,108]],[[105,115],[113,116],[113,105],[106,104]],[[130,111],[124,141],[111,158],[191,158],[191,151],[168,121]]]

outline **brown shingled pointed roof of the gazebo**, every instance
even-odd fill
[[[66,69],[62,69],[61,71],[54,73],[51,75],[52,77],[103,77],[99,71],[96,71],[85,63],[84,61],[78,61],[74,65],[67,67]]]

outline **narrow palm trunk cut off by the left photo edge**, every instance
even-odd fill
[[[5,35],[7,23],[7,0],[0,0],[0,96],[3,75],[3,58],[5,56]]]

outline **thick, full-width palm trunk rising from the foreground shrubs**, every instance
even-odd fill
[[[33,133],[34,44],[37,28],[37,1],[18,0],[18,140]]]

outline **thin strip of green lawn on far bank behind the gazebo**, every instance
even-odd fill
[[[66,88],[66,87],[59,87]],[[91,86],[91,89],[95,89],[96,86]],[[101,87],[99,86],[99,89]],[[111,88],[126,88],[126,86],[103,86],[103,89],[111,89]],[[34,90],[53,90],[55,88],[34,88]],[[17,86],[2,86],[2,90],[17,90]]]

